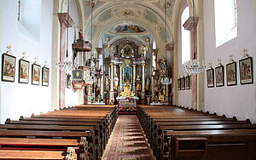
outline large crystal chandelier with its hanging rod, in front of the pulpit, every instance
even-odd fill
[[[67,4],[67,14],[69,12],[69,1]],[[71,72],[75,69],[78,68],[79,64],[76,62],[76,60],[73,60],[71,56],[68,56],[68,26],[70,26],[69,24],[69,20],[67,20],[67,44],[66,44],[66,48],[67,48],[67,52],[66,52],[66,56],[63,57],[63,60],[60,59],[56,59],[56,63],[55,66],[61,70],[61,71],[65,71],[67,74],[71,74]]]

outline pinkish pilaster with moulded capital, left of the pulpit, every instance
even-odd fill
[[[59,21],[61,23],[61,47],[60,47],[60,61],[63,61],[65,55],[66,55],[66,32],[68,27],[73,26],[73,20],[67,13],[58,13]],[[65,81],[66,81],[66,74],[65,71],[60,70],[60,82],[59,82],[59,106],[60,108],[65,107]]]

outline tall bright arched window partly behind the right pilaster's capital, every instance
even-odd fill
[[[183,10],[181,16],[181,32],[182,32],[182,64],[190,60],[190,31],[185,30],[183,24],[189,19],[189,7]]]

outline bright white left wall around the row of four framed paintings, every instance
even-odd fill
[[[32,85],[32,69],[30,66],[29,83],[18,83],[18,60],[22,57],[21,53],[26,51],[27,60],[30,61],[31,65],[34,57],[38,56],[38,64],[40,66],[43,67],[44,61],[48,61],[49,70],[54,67],[50,63],[53,3],[45,1],[41,4],[41,34],[39,42],[35,42],[30,37],[20,33],[17,20],[18,1],[1,0],[1,3],[0,39],[2,41],[0,43],[0,53],[6,52],[6,47],[11,44],[13,46],[13,54],[16,57],[15,83],[0,81],[0,117],[1,123],[3,123],[8,117],[18,119],[21,115],[29,117],[32,113],[38,114],[40,111],[50,110],[51,77],[49,77],[49,87],[42,86],[41,80],[40,85]]]

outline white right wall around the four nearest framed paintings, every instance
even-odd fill
[[[205,59],[212,62],[212,67],[218,66],[218,59],[222,60],[224,71],[229,62],[229,55],[237,62],[237,85],[227,86],[224,74],[224,87],[207,88],[205,86],[205,110],[227,117],[236,116],[238,119],[249,118],[256,123],[256,92],[255,92],[255,2],[253,0],[237,0],[238,33],[237,37],[228,43],[216,48],[214,25],[214,2],[204,1],[204,26],[205,26]],[[241,60],[242,49],[247,49],[253,56],[254,83],[241,85],[238,69],[238,60]],[[224,72],[225,73],[225,72]],[[207,77],[205,78],[207,82]]]

